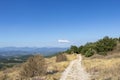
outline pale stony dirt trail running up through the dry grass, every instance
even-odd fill
[[[81,55],[77,57],[78,58],[71,61],[70,65],[65,69],[60,80],[90,80],[90,75],[81,65]]]

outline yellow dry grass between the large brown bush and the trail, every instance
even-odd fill
[[[48,71],[58,71],[55,74],[47,75],[47,80],[59,80],[62,72],[69,65],[70,61],[76,58],[75,54],[65,54],[67,56],[67,61],[56,62],[56,57],[47,58],[46,61],[48,63]]]

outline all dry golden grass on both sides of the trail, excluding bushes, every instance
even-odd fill
[[[64,62],[56,62],[56,57],[46,58],[48,71],[58,71],[55,74],[46,75],[47,80],[59,80],[62,72],[70,61],[76,58],[76,55],[67,55],[67,58],[68,61]],[[87,72],[90,73],[92,80],[120,80],[120,53],[108,55],[107,57],[93,56],[91,58],[83,58],[83,65]],[[9,80],[19,78],[20,66],[0,71],[0,80],[5,74]]]

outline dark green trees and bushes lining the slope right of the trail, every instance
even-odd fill
[[[107,52],[114,50],[117,43],[120,43],[120,37],[110,38],[108,36],[105,36],[96,42],[88,42],[85,45],[81,45],[79,47],[72,45],[70,49],[65,52],[69,54],[83,54],[86,57],[90,57],[94,54],[107,55]]]

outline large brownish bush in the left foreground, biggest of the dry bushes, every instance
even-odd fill
[[[22,66],[20,75],[25,78],[42,76],[46,74],[46,69],[47,66],[44,57],[41,55],[35,55],[30,57]]]

